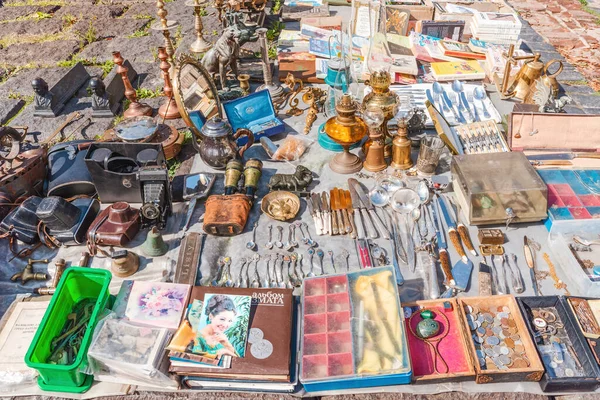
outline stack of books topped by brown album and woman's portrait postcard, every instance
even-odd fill
[[[232,301],[221,300],[221,305],[211,308],[211,298],[216,296]],[[244,298],[250,300],[248,309]],[[186,318],[167,347],[170,371],[190,389],[292,391],[297,381],[292,350],[297,344],[292,337],[294,309],[289,289],[196,286]],[[222,319],[230,324],[224,332],[207,327],[218,327]]]

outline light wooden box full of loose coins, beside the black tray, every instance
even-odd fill
[[[470,332],[469,350],[475,382],[539,382],[544,365],[514,296],[458,299],[463,323]]]

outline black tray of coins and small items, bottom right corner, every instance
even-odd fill
[[[542,390],[594,391],[600,383],[600,369],[575,326],[575,315],[565,297],[519,297],[517,302],[546,368],[540,381]]]

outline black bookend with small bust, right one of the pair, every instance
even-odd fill
[[[127,77],[133,84],[137,78],[137,72],[128,60],[123,62],[123,66],[127,67]],[[125,85],[123,84],[123,78],[117,74],[116,70],[115,66],[104,81],[99,78],[90,80],[93,118],[114,118],[121,110],[121,100],[125,97]],[[92,87],[92,84],[94,87]]]

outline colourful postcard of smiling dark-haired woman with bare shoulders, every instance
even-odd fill
[[[251,296],[207,293],[192,352],[244,357]]]

